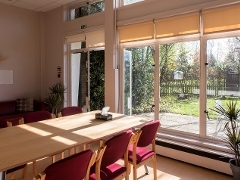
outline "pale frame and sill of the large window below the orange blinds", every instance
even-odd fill
[[[155,64],[159,65],[159,53],[156,53],[157,47],[159,48],[160,44],[167,44],[167,43],[177,43],[177,42],[186,42],[186,41],[200,41],[200,91],[203,92],[200,94],[199,101],[200,101],[200,108],[199,108],[199,134],[191,134],[188,132],[180,132],[176,130],[171,129],[161,129],[161,131],[157,134],[157,139],[162,137],[167,137],[170,140],[181,142],[181,143],[189,143],[193,146],[201,146],[205,148],[210,148],[214,150],[220,150],[226,153],[231,152],[228,148],[226,148],[226,143],[221,139],[216,139],[207,136],[206,133],[206,123],[207,118],[205,114],[206,110],[206,64],[207,63],[207,54],[206,54],[206,47],[207,47],[207,41],[211,39],[218,39],[218,38],[228,38],[228,37],[235,37],[240,36],[240,30],[235,31],[229,31],[229,32],[218,32],[218,33],[212,33],[212,34],[195,34],[195,35],[186,35],[186,36],[177,36],[177,37],[171,37],[171,38],[162,38],[162,39],[152,39],[152,40],[145,40],[145,41],[137,41],[137,42],[126,42],[126,43],[120,43],[119,48],[119,57],[120,57],[120,69],[123,71],[123,50],[125,48],[131,48],[131,47],[139,47],[139,46],[155,46]],[[158,57],[156,57],[156,54]],[[155,66],[156,68],[159,68],[159,66]],[[123,97],[123,72],[120,71],[120,86],[119,86],[119,92],[121,93],[121,97]],[[155,74],[156,75],[156,74]],[[155,79],[159,77],[155,76]],[[159,86],[159,84],[157,84]],[[156,86],[156,85],[155,85]],[[159,93],[159,92],[158,92]],[[155,96],[158,96],[158,93],[155,92]],[[159,95],[160,96],[160,95]],[[120,112],[123,112],[123,100],[120,98]],[[159,117],[156,116],[155,113],[155,119],[159,119]],[[190,136],[191,137],[190,137]]]

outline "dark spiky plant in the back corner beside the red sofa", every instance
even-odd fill
[[[61,82],[53,84],[49,87],[50,93],[48,97],[45,99],[45,103],[51,108],[52,114],[57,117],[58,116],[58,107],[64,101],[64,92],[66,88]]]

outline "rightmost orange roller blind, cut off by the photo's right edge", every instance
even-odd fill
[[[203,33],[240,29],[240,5],[203,11]]]

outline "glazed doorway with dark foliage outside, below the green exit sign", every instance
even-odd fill
[[[71,102],[84,111],[104,107],[104,50],[71,55]]]

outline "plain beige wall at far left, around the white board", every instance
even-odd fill
[[[0,101],[40,98],[39,13],[0,3],[0,70],[13,70],[13,85],[0,85]],[[1,77],[0,77],[1,78]]]

